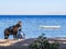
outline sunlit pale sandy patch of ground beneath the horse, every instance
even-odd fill
[[[0,46],[11,46],[15,42],[19,42],[19,41],[23,41],[24,39],[18,39],[18,40],[14,40],[14,39],[0,39]]]

